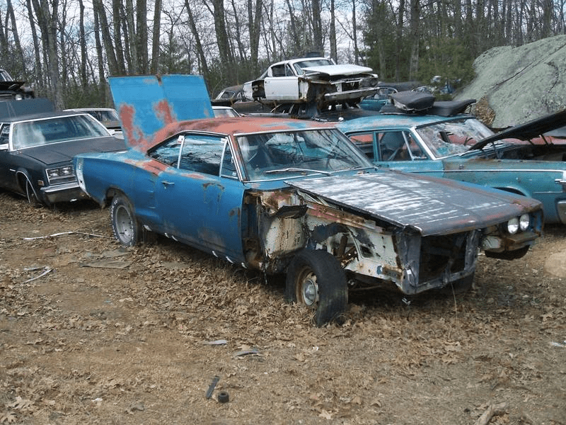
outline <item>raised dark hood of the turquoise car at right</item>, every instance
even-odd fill
[[[537,120],[529,121],[529,123],[514,125],[511,128],[507,128],[507,130],[502,130],[498,133],[495,133],[495,135],[485,137],[485,139],[477,142],[475,145],[470,147],[470,150],[483,149],[488,143],[497,142],[497,140],[530,140],[547,132],[562,128],[564,127],[565,123],[566,109],[557,113],[545,115],[543,118],[538,118]]]

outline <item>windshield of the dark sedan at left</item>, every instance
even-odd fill
[[[14,123],[12,142],[13,149],[22,149],[108,135],[108,130],[91,115],[62,115]]]

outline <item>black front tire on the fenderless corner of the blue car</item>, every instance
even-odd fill
[[[311,307],[317,326],[341,322],[348,304],[346,275],[328,252],[305,249],[287,268],[285,297],[288,302]]]

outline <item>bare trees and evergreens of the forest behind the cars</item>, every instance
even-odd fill
[[[565,33],[566,0],[0,0],[0,68],[57,108],[111,106],[106,78],[202,74],[210,95],[309,52],[382,81],[473,79],[501,45]]]

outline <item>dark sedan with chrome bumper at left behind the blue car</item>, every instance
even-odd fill
[[[11,102],[35,101],[40,99]],[[86,198],[74,174],[74,155],[120,149],[124,140],[110,136],[87,113],[0,116],[0,187],[44,205]]]

